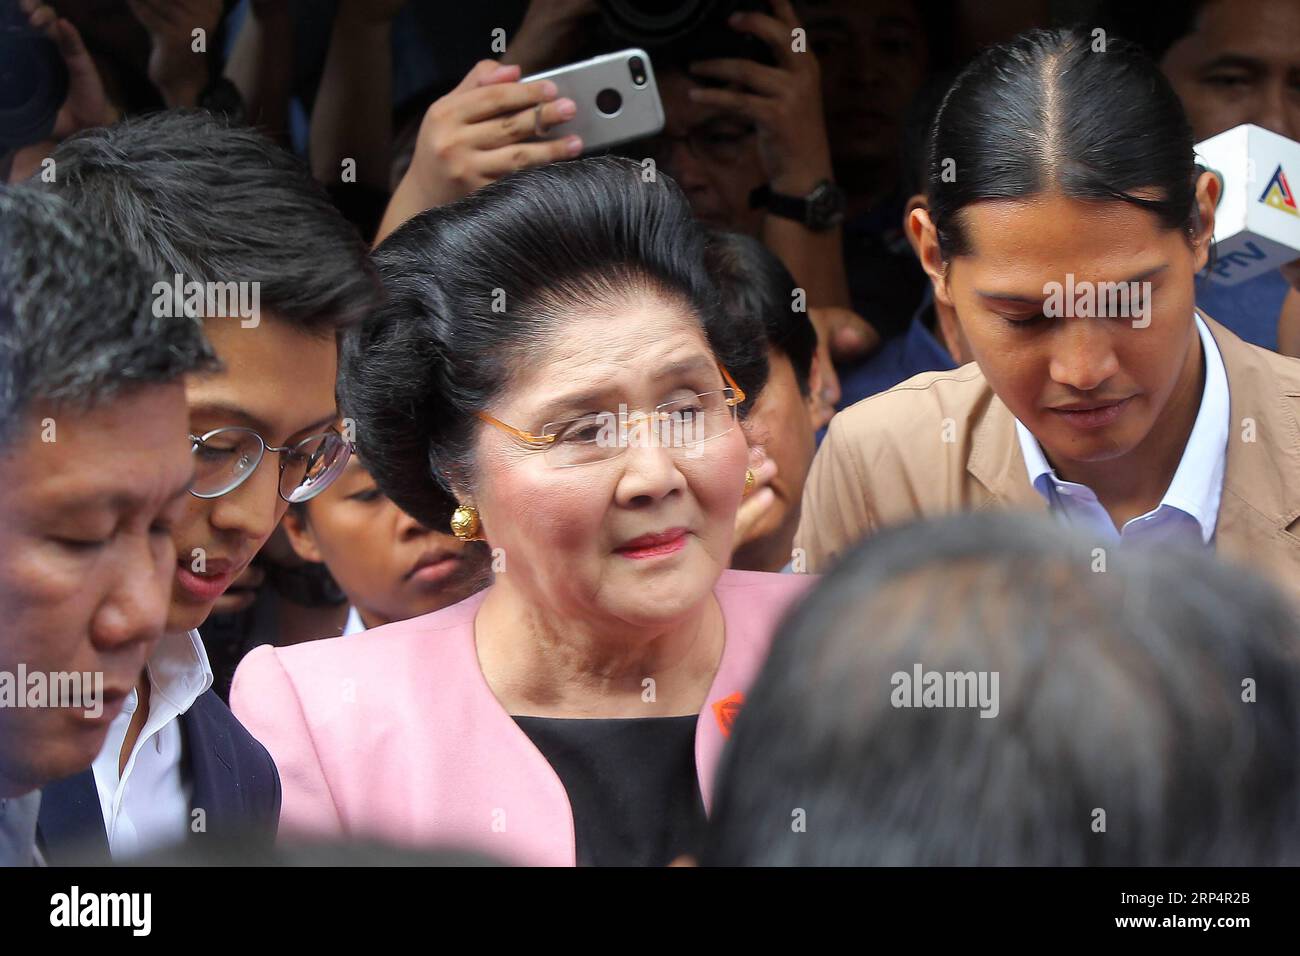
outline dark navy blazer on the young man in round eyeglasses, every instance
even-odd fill
[[[269,847],[280,821],[280,774],[266,748],[213,691],[194,701],[179,721],[182,773],[192,787],[190,808],[205,816],[205,830],[191,831],[190,839],[200,845],[239,839]],[[110,862],[94,771],[86,769],[42,790],[36,843],[56,866]]]

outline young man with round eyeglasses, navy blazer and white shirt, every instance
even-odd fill
[[[185,839],[272,839],[276,767],[212,691],[196,628],[289,505],[347,463],[335,333],[372,304],[365,248],[298,160],[205,113],[92,130],[53,159],[53,189],[162,276],[250,284],[260,311],[202,316],[222,368],[186,385],[195,477],[172,532],[166,633],[91,771],[47,790],[42,839],[55,861],[77,844],[120,860]],[[164,285],[159,308],[172,306]]]

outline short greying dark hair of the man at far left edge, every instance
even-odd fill
[[[0,442],[35,402],[90,408],[214,365],[198,321],[153,315],[153,280],[57,196],[0,187]]]

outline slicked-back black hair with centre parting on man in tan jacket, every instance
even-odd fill
[[[1196,217],[1192,129],[1141,49],[1082,29],[1030,30],[980,53],[953,82],[928,148],[930,215],[945,258],[970,251],[959,212],[1058,187],[1119,199],[1169,229]],[[1154,189],[1158,198],[1135,195]]]

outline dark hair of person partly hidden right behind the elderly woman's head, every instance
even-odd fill
[[[800,394],[809,394],[809,376],[816,354],[816,330],[807,312],[794,310],[798,285],[781,260],[751,235],[711,230],[706,252],[708,274],[718,284],[723,312],[728,316],[753,316],[762,324],[766,345],[790,360]],[[763,355],[755,356],[762,367],[749,375],[766,385],[767,367]],[[732,368],[733,375],[740,375]],[[745,405],[758,398],[755,390]]]

